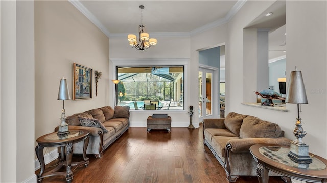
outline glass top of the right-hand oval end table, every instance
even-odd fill
[[[311,157],[312,163],[310,164],[300,164],[292,161],[288,156],[289,148],[275,147],[275,146],[262,146],[259,148],[259,153],[270,160],[284,165],[288,165],[295,168],[301,168],[306,170],[323,170],[326,165],[318,158]]]

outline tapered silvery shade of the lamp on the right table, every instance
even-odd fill
[[[301,71],[292,71],[288,82],[285,103],[308,104]]]

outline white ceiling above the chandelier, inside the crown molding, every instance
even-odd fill
[[[88,16],[94,16],[109,36],[137,33],[143,25],[148,33],[192,32],[203,26],[225,23],[244,1],[71,1]]]

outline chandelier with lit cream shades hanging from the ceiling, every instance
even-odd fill
[[[136,35],[129,34],[127,36],[127,39],[129,41],[129,45],[131,45],[133,48],[136,48],[138,50],[145,50],[150,48],[151,46],[154,46],[157,44],[157,39],[150,38],[149,39],[149,33],[145,32],[145,26],[142,24],[143,14],[142,10],[144,9],[143,5],[139,5],[139,8],[141,8],[141,25],[138,26],[138,41],[136,40]]]

